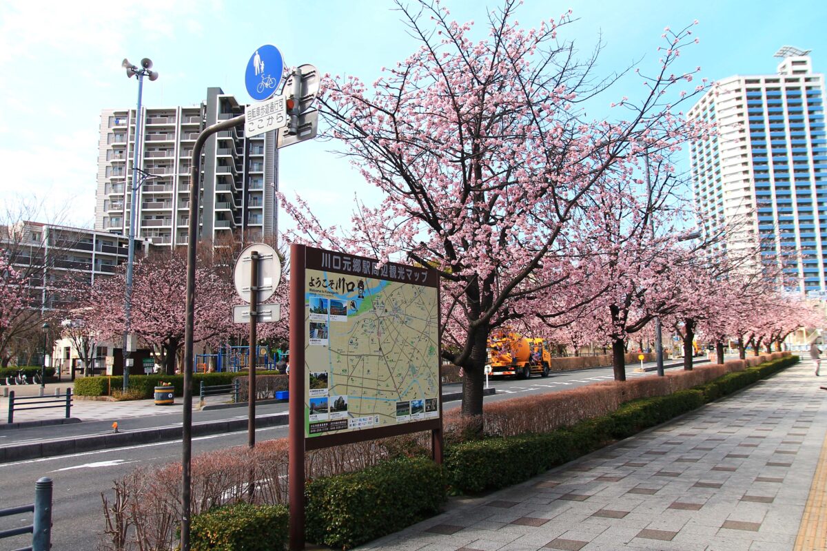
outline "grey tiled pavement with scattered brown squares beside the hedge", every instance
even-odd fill
[[[827,461],[822,381],[800,363],[518,486],[452,500],[359,549],[827,549],[824,528],[796,546],[816,465]],[[807,517],[825,524],[825,511]]]

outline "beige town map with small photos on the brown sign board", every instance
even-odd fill
[[[305,272],[308,438],[439,417],[437,287],[427,270],[399,266],[403,282],[384,268]]]

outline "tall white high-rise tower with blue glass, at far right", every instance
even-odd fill
[[[827,290],[825,79],[809,53],[784,46],[777,74],[724,78],[688,115],[718,131],[691,145],[705,230],[735,228],[729,249],[760,244],[788,290],[818,296]]]

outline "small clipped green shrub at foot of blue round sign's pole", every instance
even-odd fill
[[[190,525],[192,551],[272,551],[284,549],[287,507],[243,501],[195,515]]]

